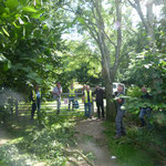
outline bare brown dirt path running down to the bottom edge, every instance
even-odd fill
[[[79,138],[77,148],[84,152],[92,152],[95,156],[95,166],[117,166],[115,159],[108,152],[106,139],[103,134],[102,121],[92,118],[84,120],[76,125]]]

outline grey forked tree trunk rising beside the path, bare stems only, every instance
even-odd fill
[[[102,0],[92,0],[92,13],[94,18],[94,22],[89,20],[86,27],[90,30],[92,38],[96,41],[98,49],[102,55],[102,75],[103,83],[105,85],[105,94],[106,94],[106,120],[114,122],[115,121],[115,105],[112,96],[112,85],[115,77],[115,73],[117,71],[117,66],[120,64],[120,52],[122,45],[122,29],[121,29],[121,0],[115,0],[116,2],[116,18],[120,24],[117,29],[117,43],[115,44],[112,39],[107,35],[105,31],[104,18],[102,15]],[[111,66],[111,50],[110,44],[115,46],[115,62],[114,65]]]

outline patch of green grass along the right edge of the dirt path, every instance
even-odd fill
[[[116,156],[117,162],[123,166],[155,166],[154,155],[148,151],[142,149],[142,146],[134,142],[132,137],[137,137],[138,132],[128,134],[120,139],[114,139],[115,125],[105,122],[105,134],[108,139],[108,147],[113,156]],[[132,131],[129,131],[132,132]]]

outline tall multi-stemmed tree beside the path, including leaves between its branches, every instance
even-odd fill
[[[91,34],[101,52],[103,82],[106,87],[106,117],[114,121],[115,108],[111,100],[112,83],[121,62],[123,3],[122,0],[111,0],[107,1],[110,8],[106,9],[102,0],[76,2],[77,8],[75,10],[72,8],[71,11],[76,14],[79,25]],[[72,7],[75,7],[75,3]]]

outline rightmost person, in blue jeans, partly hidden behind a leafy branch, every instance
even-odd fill
[[[151,95],[147,93],[147,90],[145,86],[142,87],[142,96],[141,98],[143,100],[143,102],[146,102],[148,100],[151,100]],[[145,126],[145,115],[147,115],[147,121],[148,121],[148,125],[149,125],[149,114],[151,114],[152,108],[149,106],[143,106],[141,107],[141,112],[139,112],[139,120],[141,120],[141,127]]]

